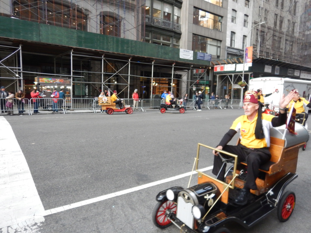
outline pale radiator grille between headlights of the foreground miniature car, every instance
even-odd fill
[[[193,204],[190,202],[185,202],[183,197],[179,196],[177,199],[177,212],[176,217],[186,224],[188,227],[193,229],[193,214],[192,214]]]

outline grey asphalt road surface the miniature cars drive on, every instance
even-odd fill
[[[151,212],[158,192],[188,185],[189,176],[161,180],[190,172],[197,143],[216,146],[242,109],[115,113],[68,113],[6,116],[31,171],[44,210],[81,203],[118,191],[147,185],[126,194],[44,216],[37,233],[122,232],[178,233],[170,226],[156,228]],[[230,142],[236,144],[237,135]],[[232,233],[308,232],[311,182],[311,144],[299,151],[297,174],[287,190],[296,194],[289,221],[273,212],[251,229],[231,224]],[[200,164],[212,166],[206,153]],[[155,183],[153,183],[155,182]],[[192,185],[196,184],[196,176]],[[1,210],[0,210],[1,211]],[[29,227],[31,228],[31,227]],[[9,232],[10,227],[0,229]],[[29,232],[25,227],[24,231]]]

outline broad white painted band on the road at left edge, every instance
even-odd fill
[[[44,207],[25,156],[4,117],[0,125],[0,229],[25,220],[43,222]]]

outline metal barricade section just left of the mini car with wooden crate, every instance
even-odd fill
[[[89,109],[96,113],[98,106],[98,98],[66,98],[65,110],[68,109]]]

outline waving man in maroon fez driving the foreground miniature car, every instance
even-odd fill
[[[238,155],[239,161],[247,162],[247,176],[244,188],[239,191],[234,202],[238,205],[244,205],[248,201],[249,191],[257,190],[256,178],[259,174],[259,166],[268,162],[271,158],[269,151],[270,146],[270,129],[272,127],[284,125],[286,122],[285,107],[293,98],[294,92],[291,91],[286,97],[285,94],[280,99],[279,117],[270,114],[262,114],[262,108],[258,103],[258,95],[256,91],[246,91],[244,96],[244,114],[233,122],[230,130],[221,139],[216,149],[224,150],[229,153]],[[227,145],[233,136],[240,133],[240,144],[237,146]],[[225,165],[221,169],[223,162],[218,156],[218,152],[213,150],[214,167],[213,174],[218,179],[225,179]],[[225,154],[221,154],[225,158],[229,158]]]

